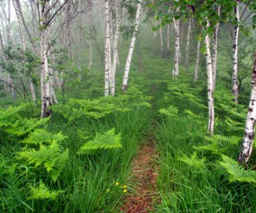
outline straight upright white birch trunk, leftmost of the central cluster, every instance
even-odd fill
[[[110,80],[110,17],[109,17],[109,0],[105,0],[105,23],[106,23],[106,44],[105,44],[105,97],[109,95]],[[111,59],[111,58],[110,58]]]

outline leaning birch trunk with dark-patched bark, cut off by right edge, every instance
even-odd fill
[[[247,167],[250,156],[253,152],[254,126],[256,119],[256,53],[254,54],[254,65],[252,72],[252,90],[250,93],[249,108],[247,111],[247,120],[244,130],[244,138],[240,148],[238,161],[245,163]]]

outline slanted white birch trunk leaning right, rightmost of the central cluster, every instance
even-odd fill
[[[122,91],[123,92],[127,89],[127,84],[128,84],[128,79],[129,79],[129,70],[130,70],[130,65],[131,65],[131,58],[132,58],[132,53],[134,52],[134,44],[135,44],[135,40],[137,37],[137,31],[138,31],[138,26],[139,26],[140,11],[141,11],[141,0],[139,0],[138,4],[137,4],[137,12],[136,12],[136,18],[135,18],[135,29],[134,29],[134,32],[132,33],[130,49],[129,49],[129,53],[128,53],[128,57],[126,60],[126,65],[125,65],[124,79],[122,80]]]

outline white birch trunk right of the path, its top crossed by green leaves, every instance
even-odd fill
[[[207,28],[209,27],[209,21],[207,20]],[[205,46],[206,46],[206,67],[207,67],[207,84],[208,84],[208,133],[213,134],[214,130],[214,98],[213,98],[213,70],[211,69],[211,53],[210,53],[210,37],[207,33],[205,36]]]

